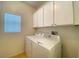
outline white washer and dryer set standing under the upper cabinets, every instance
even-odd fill
[[[59,36],[51,38],[27,36],[26,54],[30,58],[59,58],[61,57],[61,41]]]

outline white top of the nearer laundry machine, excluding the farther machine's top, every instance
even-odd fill
[[[48,50],[51,50],[56,44],[58,44],[60,42],[60,38],[59,36],[57,36],[57,38],[54,39],[46,39],[43,38],[43,40],[38,40],[38,44]]]

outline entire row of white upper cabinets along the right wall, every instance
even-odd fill
[[[73,14],[74,13],[74,14]],[[34,27],[79,24],[79,2],[51,1],[45,3],[33,15]]]

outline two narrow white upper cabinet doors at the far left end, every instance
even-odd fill
[[[33,14],[33,27],[43,27],[43,8]]]

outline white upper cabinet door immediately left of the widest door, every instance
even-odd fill
[[[44,26],[53,25],[53,2],[47,2],[44,6]]]

